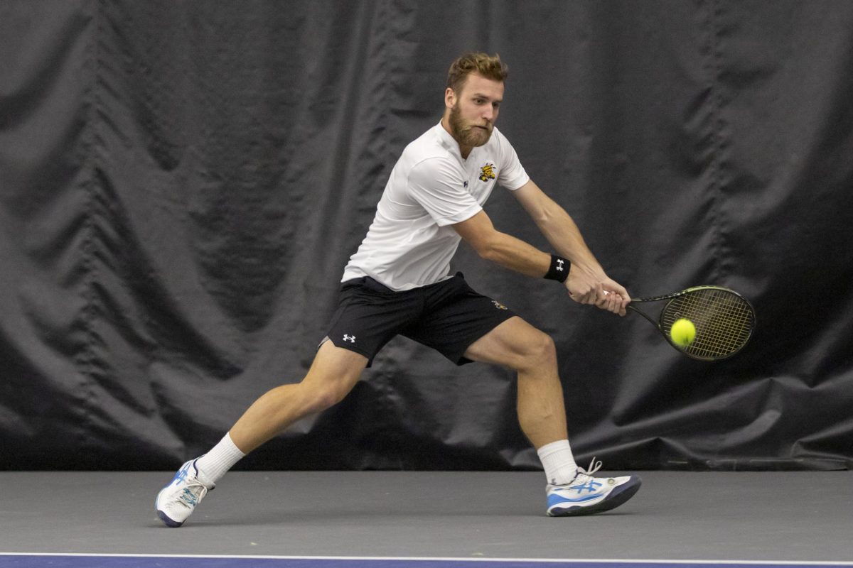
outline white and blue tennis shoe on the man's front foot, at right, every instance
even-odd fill
[[[569,517],[581,514],[603,513],[617,508],[639,491],[641,479],[637,475],[624,477],[593,477],[601,469],[601,462],[593,458],[589,471],[577,468],[577,476],[566,485],[546,487],[549,517]]]

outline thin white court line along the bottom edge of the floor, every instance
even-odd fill
[[[488,558],[488,557],[427,557],[427,556],[275,556],[255,554],[108,554],[108,553],[32,553],[0,552],[0,556],[91,556],[95,558],[200,558],[200,559],[270,559],[270,560],[411,560],[413,562],[529,562],[571,564],[684,564],[684,565],[786,565],[786,566],[853,566],[848,560],[675,560],[675,559],[589,559],[589,558]]]

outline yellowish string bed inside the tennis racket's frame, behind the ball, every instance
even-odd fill
[[[693,290],[676,297],[661,314],[664,332],[669,333],[679,318],[689,319],[696,327],[696,337],[684,350],[702,359],[738,351],[749,339],[754,324],[749,302],[728,290]]]

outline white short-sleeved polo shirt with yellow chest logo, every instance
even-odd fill
[[[461,240],[450,225],[479,213],[496,183],[516,190],[528,180],[498,129],[463,159],[438,123],[403,150],[341,281],[369,276],[400,291],[450,278],[450,259]]]

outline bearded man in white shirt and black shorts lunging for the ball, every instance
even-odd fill
[[[204,456],[183,464],[157,496],[177,527],[242,456],[291,423],[343,399],[382,346],[397,335],[433,347],[456,364],[502,364],[518,374],[518,417],[548,479],[551,516],[606,511],[640,488],[636,476],[594,478],[578,468],[554,341],[497,301],[450,276],[461,239],[486,260],[563,283],[574,301],[625,314],[628,292],[607,278],[572,218],[531,181],[495,128],[507,67],[498,56],[463,55],[450,66],[441,122],[403,151],[373,224],[342,278],[337,312],[298,384],[256,400]],[[498,232],[482,205],[500,183],[554,246],[549,255]],[[595,461],[594,461],[595,462]]]

